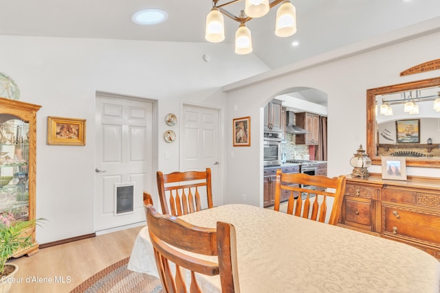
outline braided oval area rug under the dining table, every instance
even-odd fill
[[[159,293],[160,280],[149,274],[133,272],[126,268],[129,257],[113,263],[108,268],[78,285],[70,293]]]

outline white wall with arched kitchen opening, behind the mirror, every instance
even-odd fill
[[[349,159],[359,145],[366,146],[366,90],[379,86],[422,80],[440,75],[429,71],[400,77],[399,73],[423,62],[439,58],[440,17],[406,30],[351,45],[283,69],[262,73],[224,86],[228,93],[225,122],[250,116],[250,148],[233,148],[232,131],[225,148],[228,157],[225,203],[263,204],[262,157],[263,114],[268,100],[286,89],[306,86],[327,93],[329,176],[350,174]],[[227,128],[228,129],[228,128]],[[244,171],[244,172],[243,172]],[[369,168],[380,173],[380,166]],[[408,167],[408,175],[440,177],[438,168]],[[259,184],[256,184],[259,183]]]

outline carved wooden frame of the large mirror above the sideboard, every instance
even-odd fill
[[[369,155],[373,165],[382,164],[381,157],[376,155],[377,143],[379,141],[378,137],[376,137],[376,95],[398,93],[401,91],[414,91],[416,89],[423,89],[432,86],[440,86],[440,77],[418,80],[416,82],[406,82],[404,84],[382,86],[375,89],[368,89],[366,91],[366,154]],[[405,158],[407,166],[440,168],[440,158]]]

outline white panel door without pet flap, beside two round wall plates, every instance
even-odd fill
[[[220,204],[219,110],[184,105],[182,118],[182,169],[203,171],[211,168],[212,201]],[[206,196],[206,195],[201,195]],[[203,200],[203,204],[206,200]],[[202,208],[206,208],[202,205]]]

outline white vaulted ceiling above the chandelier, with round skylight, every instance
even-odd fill
[[[263,18],[247,23],[252,32],[253,53],[272,69],[440,15],[439,0],[292,3],[298,26],[294,36],[275,36],[278,6]],[[209,0],[0,0],[0,35],[202,43],[206,42],[205,19],[211,7]],[[244,1],[240,1],[226,8],[238,15],[243,7]],[[166,10],[168,19],[155,26],[136,25],[131,21],[132,14],[145,8]],[[230,50],[234,50],[238,25],[225,17],[225,42],[230,43]],[[298,40],[298,47],[292,47],[293,40]]]

